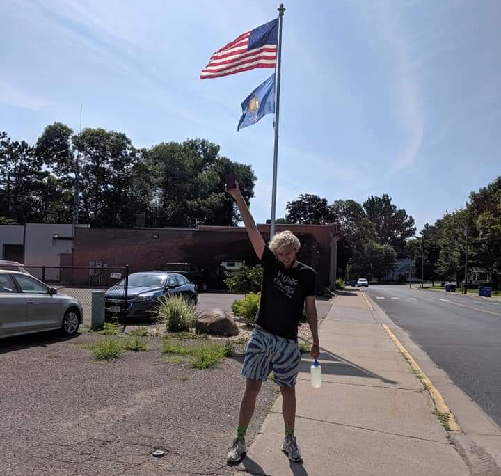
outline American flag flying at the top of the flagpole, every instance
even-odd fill
[[[212,54],[200,79],[218,78],[254,68],[275,68],[278,19],[242,33]]]

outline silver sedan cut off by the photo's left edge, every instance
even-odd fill
[[[19,271],[0,271],[0,338],[60,329],[74,335],[84,310],[77,299]]]

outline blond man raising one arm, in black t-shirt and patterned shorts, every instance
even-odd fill
[[[245,434],[254,413],[261,384],[273,370],[282,393],[285,436],[282,450],[291,461],[302,462],[301,450],[294,436],[296,419],[296,377],[301,354],[297,344],[297,328],[306,303],[306,315],[312,331],[312,358],[319,356],[317,308],[315,307],[315,271],[296,261],[301,246],[292,232],[272,237],[264,243],[250,215],[238,184],[226,189],[240,209],[248,236],[263,267],[260,309],[256,325],[246,347],[241,374],[246,377],[241,399],[237,437],[228,451],[228,463],[238,463],[245,456]]]

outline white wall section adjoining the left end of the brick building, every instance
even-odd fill
[[[72,253],[73,225],[26,223],[25,226],[24,264],[26,266],[60,266],[61,253]],[[60,239],[54,239],[56,234]]]

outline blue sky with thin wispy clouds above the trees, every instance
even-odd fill
[[[6,0],[0,129],[125,132],[137,147],[207,138],[257,175],[269,218],[273,116],[237,132],[257,69],[200,81],[212,52],[276,17],[262,1]],[[418,230],[501,174],[498,0],[285,3],[277,216],[316,193],[388,193]]]

